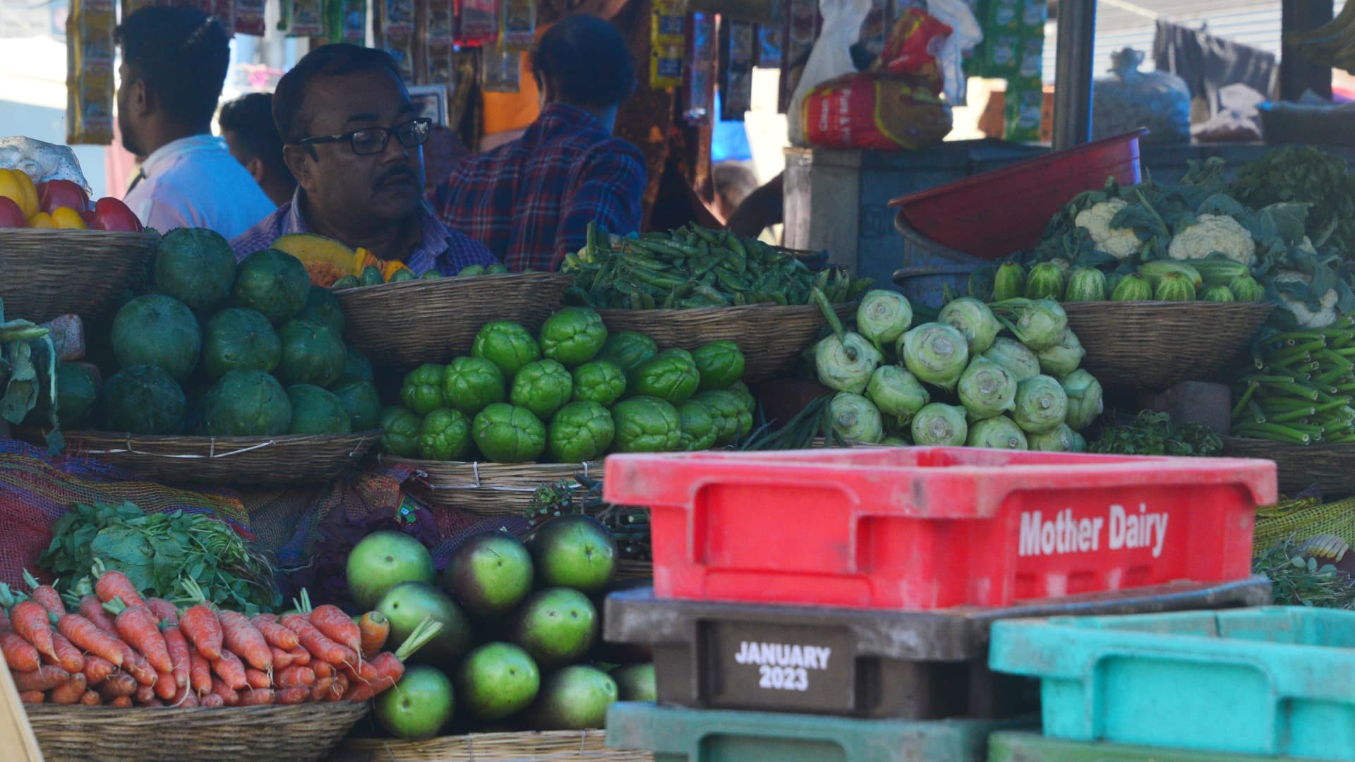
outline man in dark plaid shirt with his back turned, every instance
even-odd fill
[[[480,240],[509,270],[557,270],[584,247],[588,222],[640,228],[645,159],[612,137],[635,89],[626,41],[596,16],[551,26],[531,54],[541,117],[514,142],[465,159],[431,194],[439,218]]]

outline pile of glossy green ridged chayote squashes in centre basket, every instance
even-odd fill
[[[607,453],[706,450],[752,428],[756,403],[733,342],[660,351],[634,331],[608,334],[581,306],[533,335],[486,323],[470,357],[404,378],[381,415],[382,452],[430,461],[584,462]]]

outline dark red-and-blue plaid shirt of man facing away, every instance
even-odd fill
[[[588,222],[640,228],[645,157],[587,111],[553,103],[516,141],[469,156],[431,194],[449,228],[484,241],[509,270],[557,270]]]

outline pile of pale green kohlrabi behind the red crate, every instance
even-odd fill
[[[827,306],[827,305],[821,305]],[[1083,452],[1103,408],[1100,384],[1077,366],[1083,346],[1053,300],[986,305],[957,298],[935,323],[913,325],[908,300],[867,292],[848,331],[814,347],[818,381],[847,441],[1009,450]]]

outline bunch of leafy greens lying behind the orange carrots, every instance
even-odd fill
[[[99,559],[127,575],[146,595],[190,602],[191,579],[207,601],[247,614],[282,605],[272,569],[225,522],[202,514],[148,514],[133,503],[77,503],[51,526],[39,564],[58,578],[57,590],[79,601],[91,587]]]

